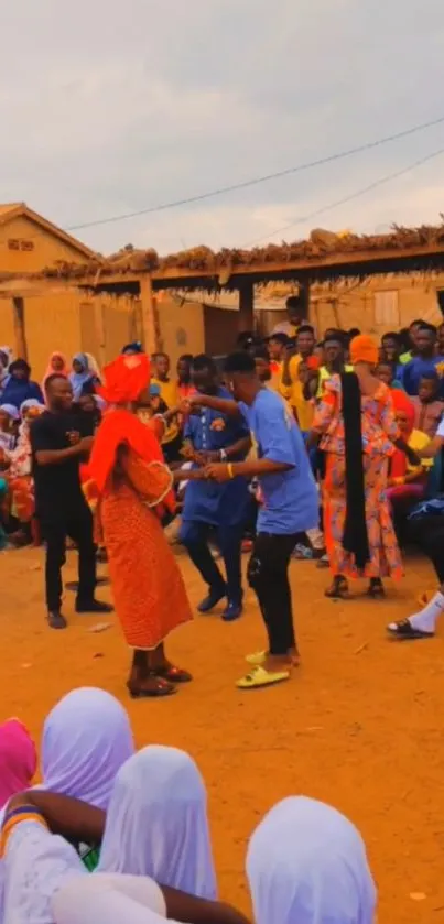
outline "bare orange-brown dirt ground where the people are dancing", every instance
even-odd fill
[[[201,580],[186,557],[180,561],[197,602]],[[69,553],[66,579],[75,567]],[[389,586],[381,602],[324,599],[328,573],[312,562],[294,562],[291,574],[303,656],[293,681],[248,693],[235,688],[242,655],[263,646],[249,591],[238,622],[198,617],[172,638],[170,654],[193,672],[193,684],[171,699],[131,702],[129,653],[117,620],[101,634],[89,632],[97,618],[75,616],[74,595],[66,591],[69,629],[51,632],[42,553],[3,553],[1,717],[20,716],[39,738],[58,697],[97,685],[126,705],[139,747],[161,742],[189,751],[208,787],[221,894],[243,910],[251,831],[278,800],[304,793],[332,803],[361,830],[379,889],[379,922],[444,921],[443,640],[396,644],[385,638],[385,624],[414,611],[419,591],[434,588],[432,572],[423,561],[408,562],[407,577]],[[354,585],[354,593],[361,590]],[[110,599],[109,587],[100,596]]]

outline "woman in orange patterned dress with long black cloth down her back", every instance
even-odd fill
[[[373,374],[378,348],[360,335],[350,344],[354,373],[325,382],[313,433],[325,453],[324,529],[333,584],[328,597],[348,595],[347,576],[369,578],[368,593],[383,595],[382,577],[402,575],[387,500],[389,458],[401,441],[390,390]],[[394,444],[394,445],[393,445]]]

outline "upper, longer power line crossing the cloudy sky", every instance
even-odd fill
[[[99,225],[111,225],[116,221],[124,221],[128,218],[138,218],[141,215],[151,215],[155,211],[166,211],[166,209],[170,208],[177,208],[182,205],[192,205],[193,203],[203,202],[204,199],[214,198],[215,196],[223,196],[226,193],[234,193],[238,189],[247,189],[250,186],[258,186],[261,183],[268,183],[270,180],[279,180],[282,176],[290,176],[293,173],[302,173],[303,171],[312,170],[316,166],[322,166],[323,164],[332,163],[333,161],[340,161],[344,157],[350,157],[354,154],[359,154],[361,151],[371,151],[373,148],[379,148],[382,144],[388,144],[391,141],[398,141],[401,138],[408,138],[411,134],[415,134],[420,131],[424,131],[425,129],[442,124],[442,122],[444,122],[444,116],[440,116],[438,119],[433,119],[430,122],[422,122],[421,124],[413,126],[412,128],[397,132],[396,134],[388,134],[385,138],[378,138],[376,141],[368,141],[366,142],[366,144],[359,144],[356,148],[348,148],[345,151],[338,151],[334,154],[328,154],[327,156],[320,157],[315,161],[308,161],[306,163],[296,164],[296,166],[288,167],[286,170],[277,171],[275,173],[269,173],[263,176],[257,176],[252,180],[245,180],[242,183],[234,183],[229,186],[220,186],[219,188],[212,189],[208,193],[199,193],[195,196],[187,196],[186,198],[173,199],[171,202],[161,203],[160,205],[148,206],[147,208],[138,209],[138,211],[127,211],[120,215],[112,215],[109,218],[97,218],[94,221],[84,221],[80,225],[71,225],[67,228],[65,228],[65,230],[80,231],[85,228],[96,228]]]

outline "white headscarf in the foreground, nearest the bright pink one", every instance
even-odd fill
[[[117,772],[133,753],[123,706],[105,689],[73,689],[46,718],[39,789],[106,811]]]

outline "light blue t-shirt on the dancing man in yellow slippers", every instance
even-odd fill
[[[282,398],[261,389],[248,406],[239,403],[256,443],[258,457],[293,466],[288,471],[259,477],[263,504],[258,532],[291,535],[320,523],[316,483],[301,431]]]

